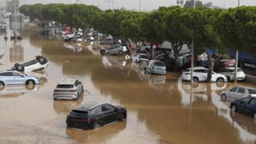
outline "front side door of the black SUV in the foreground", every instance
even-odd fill
[[[106,123],[114,122],[117,120],[118,113],[112,105],[102,105],[102,112],[104,113],[104,121]]]

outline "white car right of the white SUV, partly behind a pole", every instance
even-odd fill
[[[228,81],[234,81],[234,74],[235,74],[235,67],[226,67],[219,71],[219,73],[225,75],[228,78]],[[245,81],[245,73],[242,71],[242,69],[238,68],[238,71],[236,73],[237,81]]]

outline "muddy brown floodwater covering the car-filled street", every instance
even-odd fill
[[[0,143],[255,143],[252,117],[231,115],[220,100],[222,90],[234,83],[199,83],[190,86],[180,73],[148,75],[142,65],[122,56],[100,56],[95,44],[64,43],[55,35],[37,35],[40,28],[26,24],[22,41],[4,41],[0,35],[0,70],[37,55],[49,58],[37,75],[37,86],[5,86],[0,91]],[[11,31],[8,33],[10,37]],[[84,84],[83,96],[73,101],[53,100],[62,78]],[[253,86],[246,82],[243,86]],[[82,103],[102,101],[127,108],[127,120],[99,130],[66,128],[66,116]]]

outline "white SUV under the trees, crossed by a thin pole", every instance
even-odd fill
[[[194,82],[200,82],[200,81],[206,81],[207,80],[207,73],[208,69],[205,67],[194,67],[193,69],[193,81]],[[190,81],[191,78],[191,68],[185,69],[182,72],[181,79],[183,81]],[[226,82],[228,81],[227,78],[219,73],[215,73],[213,71],[213,75],[211,75],[211,81],[212,82]]]

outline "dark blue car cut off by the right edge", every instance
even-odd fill
[[[230,103],[231,111],[238,111],[245,115],[253,116],[256,120],[256,98],[246,97],[242,99],[236,99]]]

